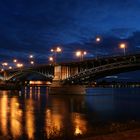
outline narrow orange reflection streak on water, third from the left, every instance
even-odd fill
[[[29,139],[34,139],[34,105],[33,100],[29,99],[26,102],[26,112],[25,112],[25,123],[26,123],[26,133]]]

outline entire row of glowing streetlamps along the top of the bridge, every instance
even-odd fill
[[[95,41],[96,41],[96,43],[100,43],[101,42],[101,37],[96,37]],[[119,48],[123,49],[124,55],[126,53],[126,46],[127,46],[126,43],[119,44]],[[58,46],[56,48],[52,48],[50,51],[52,52],[52,56],[49,57],[49,61],[51,63],[56,63],[57,54],[62,52],[62,48]],[[84,56],[87,55],[87,51],[85,51],[85,50],[78,50],[78,51],[75,52],[75,55],[77,57],[79,57],[80,60],[83,60]],[[29,55],[29,61],[30,61],[31,65],[34,65],[34,63],[35,63],[34,62],[34,55],[32,55],[32,54]],[[14,62],[15,66],[17,68],[22,68],[24,66],[23,63],[19,63],[17,59],[14,59],[13,62]],[[13,68],[12,66],[9,66],[7,62],[2,63],[2,67],[3,68],[1,69],[1,71],[4,71],[5,67],[8,68],[8,69],[12,69]]]

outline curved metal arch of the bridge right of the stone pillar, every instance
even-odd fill
[[[63,84],[81,84],[87,81],[95,81],[105,76],[119,74],[123,72],[140,70],[140,62],[135,59],[122,61],[118,63],[106,64],[98,67],[93,67],[79,72],[62,81]]]

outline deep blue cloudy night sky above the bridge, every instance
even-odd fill
[[[124,41],[127,53],[140,52],[140,0],[0,0],[1,62],[34,54],[47,63],[57,45],[61,61],[76,59],[77,49],[91,58],[119,54]]]

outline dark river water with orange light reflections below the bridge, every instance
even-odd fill
[[[127,122],[140,122],[139,88],[87,89],[83,96],[48,95],[45,87],[0,91],[0,140],[76,139]]]

